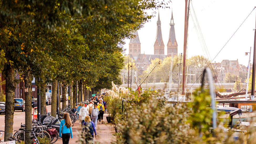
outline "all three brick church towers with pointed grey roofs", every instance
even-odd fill
[[[164,42],[163,42],[163,36],[161,31],[161,21],[160,21],[159,13],[158,13],[156,26],[157,27],[156,27],[156,41],[154,43],[154,54],[164,54]],[[134,32],[133,35],[135,35],[135,37],[130,40],[129,54],[137,56],[140,54],[140,41],[139,41],[138,31]],[[175,36],[174,20],[173,20],[173,12],[172,12],[169,39],[167,43],[167,56],[171,56],[172,52],[174,55],[177,55],[177,48],[178,48],[178,45],[177,45],[176,36]]]

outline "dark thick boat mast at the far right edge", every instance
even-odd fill
[[[256,8],[256,7],[254,7]],[[253,63],[252,63],[252,93],[251,96],[254,96],[255,91],[255,66],[256,66],[256,21],[255,21],[255,29],[254,30],[254,47],[253,47]],[[254,101],[254,99],[251,99]]]

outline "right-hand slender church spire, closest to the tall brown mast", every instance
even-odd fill
[[[174,30],[174,21],[173,21],[173,11],[171,12],[171,23],[170,23],[170,32],[169,32],[169,39],[167,43],[167,56],[177,55],[178,53],[178,44],[176,41],[175,30]]]

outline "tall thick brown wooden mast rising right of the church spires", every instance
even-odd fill
[[[187,1],[185,0],[185,24],[184,24],[184,49],[183,49],[183,69],[182,69],[182,91],[181,95],[185,95],[185,73],[186,73],[186,51],[187,51],[187,27],[189,24],[189,5],[187,6]],[[190,0],[189,0],[190,3]]]

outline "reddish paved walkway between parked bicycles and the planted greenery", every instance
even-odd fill
[[[114,128],[112,124],[107,123],[106,116],[107,114],[103,115],[103,121],[104,124],[97,123],[97,137],[94,138],[95,143],[102,143],[102,144],[111,144],[115,140],[114,134]],[[72,133],[73,133],[73,139],[69,140],[69,143],[76,143],[79,140],[79,133],[81,132],[81,125],[79,125],[79,120],[77,120],[72,126]],[[58,141],[55,142],[55,144],[62,144],[62,139],[58,139]]]

